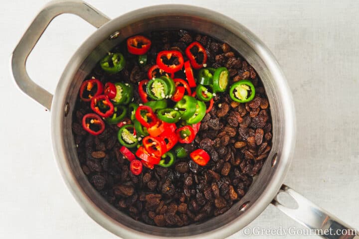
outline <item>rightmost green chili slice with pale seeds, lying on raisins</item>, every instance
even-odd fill
[[[239,103],[249,102],[253,100],[255,96],[254,85],[252,84],[252,82],[248,80],[238,81],[234,83],[229,89],[229,96],[235,102],[239,102]]]

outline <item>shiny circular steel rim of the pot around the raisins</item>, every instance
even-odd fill
[[[165,13],[164,13],[165,12]],[[245,211],[240,217],[241,221],[246,221],[247,224],[252,222],[259,214],[264,211],[264,209],[271,203],[273,198],[278,193],[285,175],[289,169],[291,157],[293,155],[294,144],[295,144],[295,133],[296,133],[296,123],[295,123],[295,111],[292,95],[289,89],[289,86],[286,82],[284,74],[274,58],[273,54],[269,49],[264,45],[264,43],[259,40],[250,30],[244,27],[239,22],[227,17],[221,13],[218,13],[213,10],[209,10],[202,7],[184,5],[184,4],[161,4],[154,5],[149,7],[140,8],[137,10],[130,11],[123,15],[120,15],[91,34],[78,48],[74,53],[66,68],[63,71],[63,74],[57,85],[53,101],[52,101],[52,114],[51,114],[51,136],[52,136],[52,145],[53,152],[56,158],[60,173],[71,191],[72,195],[75,197],[77,202],[80,204],[82,209],[98,224],[112,232],[117,236],[123,238],[161,238],[157,235],[149,235],[142,232],[135,231],[131,228],[128,228],[111,217],[107,216],[101,209],[99,209],[85,194],[83,189],[80,187],[76,178],[71,173],[71,169],[66,160],[65,147],[63,140],[59,138],[63,137],[63,125],[61,118],[64,117],[64,107],[65,107],[65,95],[67,94],[68,87],[73,80],[75,73],[78,71],[80,65],[89,55],[89,53],[98,46],[103,40],[103,36],[109,36],[111,33],[116,31],[115,22],[120,22],[121,19],[128,19],[131,17],[133,21],[141,20],[141,18],[146,18],[154,15],[169,15],[169,14],[187,14],[192,16],[203,17],[210,20],[211,22],[218,23],[219,25],[226,24],[225,28],[235,33],[238,37],[246,40],[248,44],[253,48],[253,50],[261,57],[261,59],[266,62],[269,66],[269,71],[276,79],[278,83],[278,94],[282,100],[283,112],[284,114],[284,125],[283,127],[283,149],[281,151],[281,160],[277,163],[277,169],[271,178],[271,186],[267,187],[261,196],[251,205],[251,210]],[[124,21],[127,22],[128,21]],[[118,23],[116,24],[118,28]],[[283,160],[286,159],[286,160]],[[245,218],[245,219],[243,219]],[[228,237],[236,232],[238,229],[246,226],[239,224],[238,218],[232,221],[231,224],[227,224],[223,227],[214,229],[209,232],[204,232],[202,234],[197,234],[185,238],[207,238],[207,239],[217,239]]]

